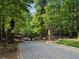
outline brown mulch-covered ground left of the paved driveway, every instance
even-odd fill
[[[6,47],[0,43],[0,59],[17,59],[17,45],[10,44]]]

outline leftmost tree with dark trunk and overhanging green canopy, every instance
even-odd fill
[[[23,20],[26,21],[25,16],[29,15],[30,3],[33,3],[33,0],[0,0],[1,37],[4,38],[6,31],[10,28],[11,19],[19,24]]]

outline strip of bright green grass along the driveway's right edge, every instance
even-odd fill
[[[79,48],[79,40],[59,40],[57,43]]]

